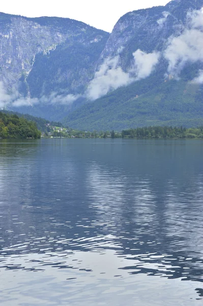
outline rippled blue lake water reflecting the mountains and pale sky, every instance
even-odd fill
[[[202,305],[203,140],[0,140],[0,304]]]

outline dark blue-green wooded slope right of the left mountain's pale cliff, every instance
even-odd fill
[[[38,54],[26,79],[31,96],[48,96],[52,91],[58,94],[84,92],[93,78],[106,37],[100,39],[100,43],[94,44],[89,43],[90,37],[83,42],[67,39],[54,52],[46,56]]]

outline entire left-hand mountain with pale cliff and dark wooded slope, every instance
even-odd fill
[[[53,102],[50,108],[41,101],[67,95],[71,99],[82,93],[94,77],[108,37],[102,30],[68,18],[0,13],[0,97],[10,102],[17,92],[18,111],[48,117],[64,114],[71,104]],[[7,108],[15,110],[11,103]]]

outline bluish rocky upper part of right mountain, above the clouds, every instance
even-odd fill
[[[105,58],[121,55],[121,66],[130,66],[137,49],[151,53],[166,48],[168,38],[178,37],[187,25],[187,13],[199,10],[202,0],[173,0],[166,6],[133,11],[122,16],[115,24],[101,53],[97,67]]]

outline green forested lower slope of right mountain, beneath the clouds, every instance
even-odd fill
[[[122,131],[149,125],[203,124],[203,89],[185,80],[152,75],[88,103],[62,120],[75,129]]]

